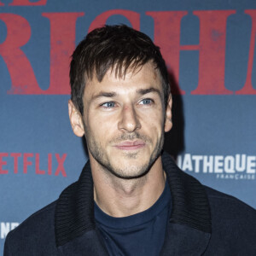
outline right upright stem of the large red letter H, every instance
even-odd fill
[[[198,86],[191,94],[227,95],[224,85],[226,24],[235,10],[195,11],[200,20]],[[186,49],[186,47],[185,47]]]

